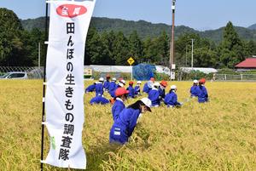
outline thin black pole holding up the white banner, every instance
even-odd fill
[[[44,28],[44,40],[48,40],[48,3],[46,3],[46,8],[45,8],[45,28]],[[47,54],[47,47],[48,44],[44,43],[44,82],[43,82],[43,109],[42,109],[42,138],[41,138],[41,171],[44,170],[44,163],[42,162],[44,160],[44,122],[45,122],[45,72],[46,72],[46,54]]]

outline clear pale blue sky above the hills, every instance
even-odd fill
[[[0,8],[20,19],[44,16],[44,0],[0,0]],[[256,23],[255,0],[177,0],[175,25],[197,30],[217,29],[230,20],[235,26]],[[172,0],[97,0],[93,16],[172,23]]]

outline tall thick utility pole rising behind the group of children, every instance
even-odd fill
[[[175,20],[175,3],[176,0],[172,0],[172,41],[170,43],[170,77],[171,80],[175,79],[175,66],[174,66],[174,20]]]

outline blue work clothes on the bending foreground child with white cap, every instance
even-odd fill
[[[137,125],[139,109],[125,108],[114,121],[109,133],[110,143],[125,144]]]

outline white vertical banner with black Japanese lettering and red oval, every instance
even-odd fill
[[[96,0],[48,1],[45,125],[50,147],[44,163],[86,168],[84,124],[84,46]]]

